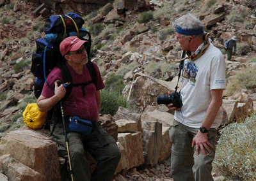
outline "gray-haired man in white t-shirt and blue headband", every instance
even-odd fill
[[[187,14],[173,22],[180,48],[188,58],[182,69],[183,106],[175,110],[170,129],[171,173],[174,181],[213,181],[212,161],[217,128],[221,124],[225,61],[209,42],[202,22]],[[190,73],[193,72],[193,73]]]

